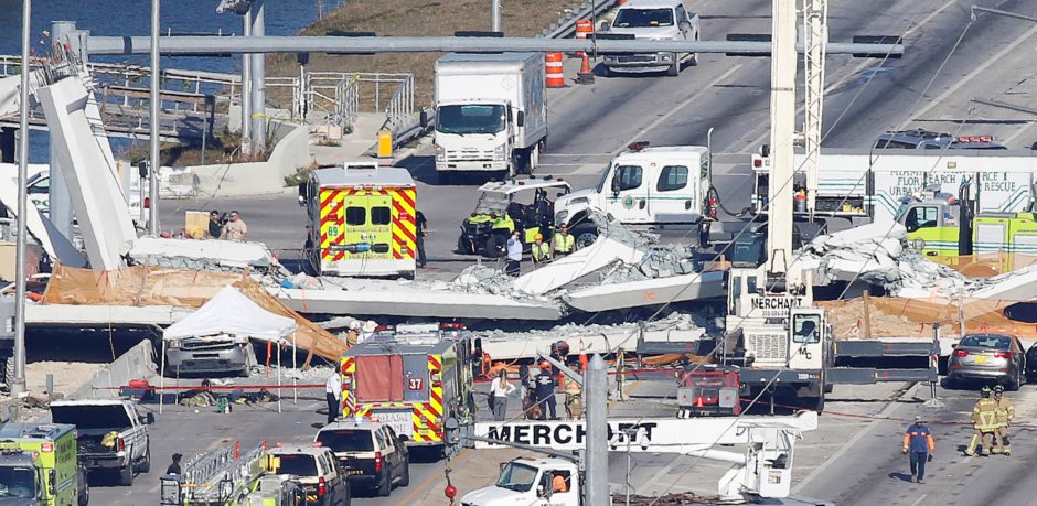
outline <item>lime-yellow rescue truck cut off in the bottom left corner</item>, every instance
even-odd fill
[[[17,504],[86,505],[89,488],[86,469],[76,457],[75,426],[7,423],[0,427],[0,489],[6,492],[6,497],[19,498]]]

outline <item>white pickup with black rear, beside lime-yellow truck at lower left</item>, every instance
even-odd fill
[[[89,471],[115,471],[119,484],[131,486],[135,473],[151,471],[148,426],[154,415],[141,416],[137,402],[125,399],[58,400],[51,402],[54,423],[76,426],[79,459]]]

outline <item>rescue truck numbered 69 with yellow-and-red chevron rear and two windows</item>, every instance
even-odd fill
[[[414,277],[416,186],[406,169],[376,162],[318,169],[299,185],[309,215],[306,251],[321,276]]]

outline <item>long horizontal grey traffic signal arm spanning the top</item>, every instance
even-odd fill
[[[89,54],[147,54],[150,40],[146,36],[90,36],[87,40]],[[539,39],[539,37],[453,37],[453,36],[252,36],[212,37],[177,36],[162,37],[159,50],[162,54],[242,54],[242,53],[428,53],[463,51],[467,53],[500,52],[576,52],[592,51],[589,39]],[[599,53],[652,53],[669,51],[678,53],[731,53],[770,54],[770,42],[749,41],[597,41]],[[803,45],[797,44],[802,52]],[[827,54],[904,54],[904,44],[854,44],[830,42]]]

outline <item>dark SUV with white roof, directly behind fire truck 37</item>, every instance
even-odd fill
[[[387,424],[342,421],[324,426],[316,441],[334,452],[350,485],[373,488],[385,497],[392,493],[394,483],[410,484],[410,456],[405,439]]]

